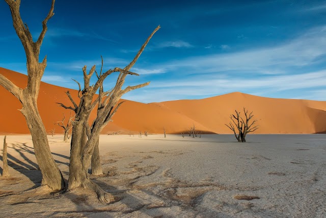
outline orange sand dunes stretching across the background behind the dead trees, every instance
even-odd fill
[[[17,86],[24,88],[27,77],[0,67],[4,75]],[[56,102],[70,105],[65,94],[69,90],[77,101],[77,91],[41,83],[38,107],[47,132],[54,127],[57,134],[62,133],[54,123],[62,120],[63,113],[69,117],[69,110]],[[0,134],[29,134],[23,115],[18,111],[20,102],[0,86]],[[108,133],[149,133],[186,132],[195,124],[205,133],[232,133],[224,124],[229,123],[229,115],[242,107],[254,111],[260,128],[255,133],[324,133],[326,132],[326,102],[309,100],[270,99],[240,92],[215,96],[202,100],[178,100],[143,104],[125,100],[113,117],[114,122],[102,131]],[[242,112],[243,114],[243,112]],[[95,113],[91,119],[95,118]]]

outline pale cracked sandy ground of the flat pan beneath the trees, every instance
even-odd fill
[[[62,139],[49,136],[67,179],[70,144]],[[326,217],[326,135],[247,139],[102,135],[102,167],[109,173],[93,181],[121,198],[104,205],[86,189],[50,195],[32,189],[40,185],[41,174],[31,136],[8,136],[12,177],[0,179],[0,216]],[[237,195],[260,199],[236,200]]]

